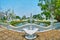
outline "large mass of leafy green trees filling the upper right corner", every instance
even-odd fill
[[[60,21],[60,0],[39,0],[38,6],[41,7],[41,10],[46,15],[52,14],[55,18]],[[49,13],[47,13],[49,12]],[[49,15],[50,15],[49,14]]]

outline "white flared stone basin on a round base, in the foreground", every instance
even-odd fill
[[[28,30],[28,29],[23,29],[25,32],[26,32],[26,35],[25,35],[25,38],[26,39],[35,39],[36,38],[36,35],[34,33],[36,33],[38,31],[38,28],[36,29],[33,29],[33,30]]]

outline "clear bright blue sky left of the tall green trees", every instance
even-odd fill
[[[39,0],[0,0],[0,10],[14,10],[14,13],[20,17],[27,17],[41,13],[38,5]]]

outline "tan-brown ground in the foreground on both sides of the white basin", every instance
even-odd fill
[[[34,40],[60,40],[60,31],[51,30],[47,32],[36,32],[38,37]],[[15,32],[11,30],[0,31],[0,40],[26,40],[25,32]]]

